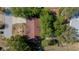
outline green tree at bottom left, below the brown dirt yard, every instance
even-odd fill
[[[26,42],[27,38],[23,36],[15,36],[11,37],[10,39],[7,39],[7,45],[9,47],[8,50],[11,51],[27,51],[30,49]]]

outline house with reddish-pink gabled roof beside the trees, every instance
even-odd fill
[[[40,36],[39,18],[32,18],[27,20],[26,26],[26,34],[28,35],[28,37],[35,38]]]

